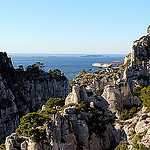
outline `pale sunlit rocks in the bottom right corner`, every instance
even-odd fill
[[[143,107],[133,118],[116,123],[115,129],[115,132],[120,131],[119,137],[129,143],[129,149],[135,148],[134,143],[150,148],[150,113],[147,107]]]

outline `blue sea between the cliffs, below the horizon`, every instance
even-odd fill
[[[15,68],[23,65],[26,68],[36,62],[44,64],[44,70],[59,69],[71,82],[82,69],[91,72],[98,70],[93,63],[109,63],[122,60],[127,54],[107,54],[106,57],[82,57],[87,54],[8,54]]]

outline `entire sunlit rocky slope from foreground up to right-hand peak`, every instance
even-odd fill
[[[34,134],[13,133],[6,138],[6,149],[150,149],[150,106],[142,106],[140,90],[136,91],[150,85],[149,63],[150,27],[134,42],[124,64],[95,73],[82,70],[71,82],[63,107],[42,107],[39,114],[50,118],[35,128],[46,134],[42,142],[33,142]]]

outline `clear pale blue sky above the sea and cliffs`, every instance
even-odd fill
[[[0,0],[0,51],[129,53],[149,24],[150,0]]]

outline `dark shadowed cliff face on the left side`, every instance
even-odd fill
[[[0,53],[0,143],[14,132],[23,115],[37,111],[50,97],[66,98],[69,82],[63,75],[14,69],[6,53]]]

